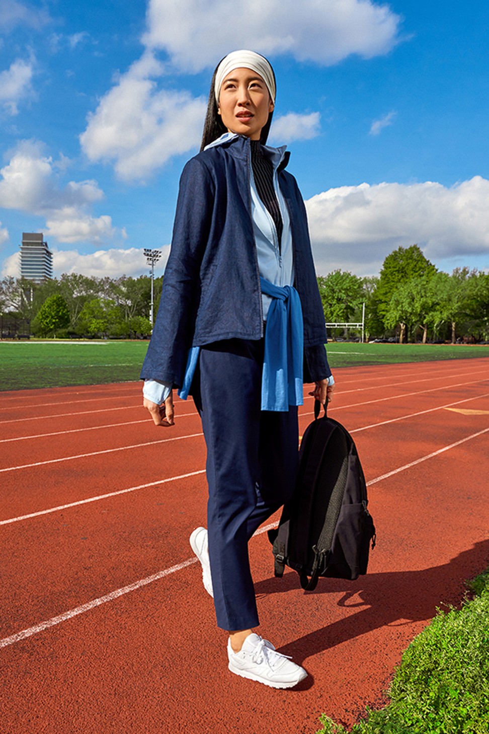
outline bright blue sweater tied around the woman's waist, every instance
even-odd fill
[[[262,410],[284,411],[302,405],[304,328],[301,299],[293,286],[274,286],[260,276],[262,293],[273,299],[265,329],[265,355],[262,372]],[[186,400],[194,378],[199,346],[188,353],[183,385],[178,395]]]

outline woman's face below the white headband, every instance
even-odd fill
[[[229,132],[260,140],[262,127],[273,110],[267,85],[251,69],[233,69],[224,77],[218,113]]]

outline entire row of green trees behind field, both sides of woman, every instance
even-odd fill
[[[155,313],[162,283],[163,277],[155,278]],[[440,272],[417,244],[387,255],[378,276],[335,270],[317,277],[317,283],[327,322],[359,322],[365,304],[367,340],[489,339],[489,275],[468,268],[452,275]],[[6,277],[0,281],[2,333],[19,333],[21,320],[34,336],[146,338],[151,333],[150,294],[147,275],[65,274],[43,283]],[[6,329],[5,324],[13,326]]]

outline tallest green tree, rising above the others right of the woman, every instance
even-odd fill
[[[411,247],[406,248],[397,247],[397,250],[387,255],[380,270],[378,286],[375,288],[378,313],[386,327],[387,321],[391,324],[392,310],[389,310],[389,304],[397,286],[402,286],[403,283],[407,283],[408,280],[415,277],[424,275],[427,278],[432,277],[435,272],[435,266],[424,257],[417,244],[412,244]],[[390,316],[386,321],[388,311]],[[406,323],[405,321],[399,323],[401,327],[400,341],[402,342],[405,338]]]

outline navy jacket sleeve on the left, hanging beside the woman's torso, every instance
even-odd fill
[[[141,379],[183,384],[200,297],[200,265],[212,220],[214,185],[202,161],[193,158],[180,178],[172,247],[163,275],[160,306]]]

